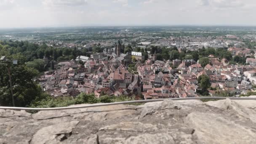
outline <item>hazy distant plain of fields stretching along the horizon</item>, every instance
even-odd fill
[[[126,32],[127,30],[127,32]],[[135,38],[126,33],[139,33],[156,37],[170,36],[223,36],[223,35],[256,35],[256,27],[227,26],[145,26],[145,27],[60,27],[60,28],[27,28],[0,29],[0,40],[110,40],[117,38]],[[121,36],[120,36],[121,35]],[[6,37],[11,36],[11,37]]]

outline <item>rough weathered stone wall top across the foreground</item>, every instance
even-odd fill
[[[255,137],[255,100],[0,110],[0,144],[256,144]]]

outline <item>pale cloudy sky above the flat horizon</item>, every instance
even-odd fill
[[[0,0],[0,28],[256,26],[256,0]]]

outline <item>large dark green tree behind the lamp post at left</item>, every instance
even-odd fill
[[[0,64],[0,105],[11,106],[11,89],[6,67],[5,64]],[[26,107],[43,93],[34,81],[39,72],[24,64],[11,65],[10,69],[15,104],[18,107]]]

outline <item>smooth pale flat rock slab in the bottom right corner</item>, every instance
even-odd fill
[[[185,123],[195,128],[197,144],[255,144],[256,133],[220,114],[192,112]]]

